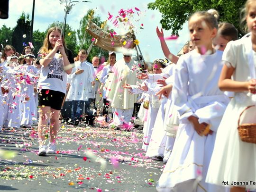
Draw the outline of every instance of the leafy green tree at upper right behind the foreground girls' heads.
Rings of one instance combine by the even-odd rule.
[[[148,3],[147,7],[158,9],[162,14],[162,27],[171,29],[174,34],[178,34],[192,13],[214,8],[219,12],[219,20],[233,24],[241,35],[239,12],[245,2],[246,0],[155,0]]]

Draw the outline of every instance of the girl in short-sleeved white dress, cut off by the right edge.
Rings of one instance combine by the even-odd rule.
[[[206,178],[206,182],[231,187],[231,192],[256,188],[250,183],[256,181],[256,144],[243,142],[238,135],[239,115],[247,106],[256,104],[256,0],[247,0],[245,12],[251,36],[229,42],[223,53],[225,65],[219,88],[235,95],[219,125]],[[255,122],[255,109],[249,113],[245,117]]]

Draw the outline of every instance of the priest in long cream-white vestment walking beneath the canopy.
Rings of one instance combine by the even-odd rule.
[[[131,58],[130,52],[124,52],[123,58],[118,60],[112,68],[113,75],[110,78],[106,97],[113,108],[113,123],[116,126],[128,124],[133,113],[134,103],[137,101],[137,94],[130,94],[128,89],[122,85],[125,83],[136,84],[138,63]]]

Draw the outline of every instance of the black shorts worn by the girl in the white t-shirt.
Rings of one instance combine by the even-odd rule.
[[[55,110],[61,110],[65,93],[49,89],[42,89],[38,92],[38,106],[47,106]]]

